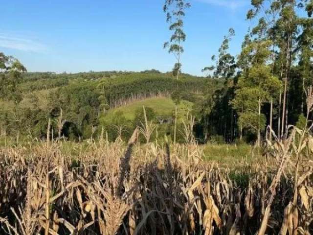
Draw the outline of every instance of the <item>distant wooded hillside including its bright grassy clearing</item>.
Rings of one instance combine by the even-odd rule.
[[[53,120],[54,133],[57,132],[56,118],[61,110],[66,120],[62,135],[70,140],[90,138],[94,129],[99,131],[103,126],[112,128],[121,123],[131,132],[138,125],[135,113],[138,115],[142,106],[153,110],[156,124],[161,118],[172,128],[175,104],[170,97],[175,91],[179,90],[182,100],[178,110],[181,119],[194,103],[203,99],[206,89],[216,90],[220,83],[189,74],[181,74],[177,81],[172,73],[155,70],[24,73],[17,86],[16,94],[20,97],[17,105],[9,96],[0,97],[0,132],[12,136],[31,132],[33,137],[45,138],[49,118]]]

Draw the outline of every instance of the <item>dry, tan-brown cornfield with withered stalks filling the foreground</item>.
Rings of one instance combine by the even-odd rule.
[[[240,170],[204,162],[190,139],[139,145],[138,129],[127,145],[91,140],[87,150],[74,147],[75,156],[61,151],[62,141],[2,148],[0,233],[310,235],[308,123],[284,141],[272,133],[264,159]]]

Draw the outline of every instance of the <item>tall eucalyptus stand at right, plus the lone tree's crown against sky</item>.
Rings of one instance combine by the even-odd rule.
[[[182,67],[181,43],[186,39],[182,18],[189,7],[185,0],[165,0],[166,21],[174,31],[165,44],[177,59],[173,74]],[[269,130],[278,138],[287,137],[288,126],[306,113],[306,90],[313,82],[312,13],[313,0],[251,0],[241,53],[228,52],[235,36],[230,28],[218,56],[212,56],[215,65],[202,69],[208,77],[224,80],[221,89],[212,94],[208,88],[197,104],[202,127],[198,135],[203,141],[218,135],[228,142],[245,137],[259,145],[267,133],[271,138]]]

